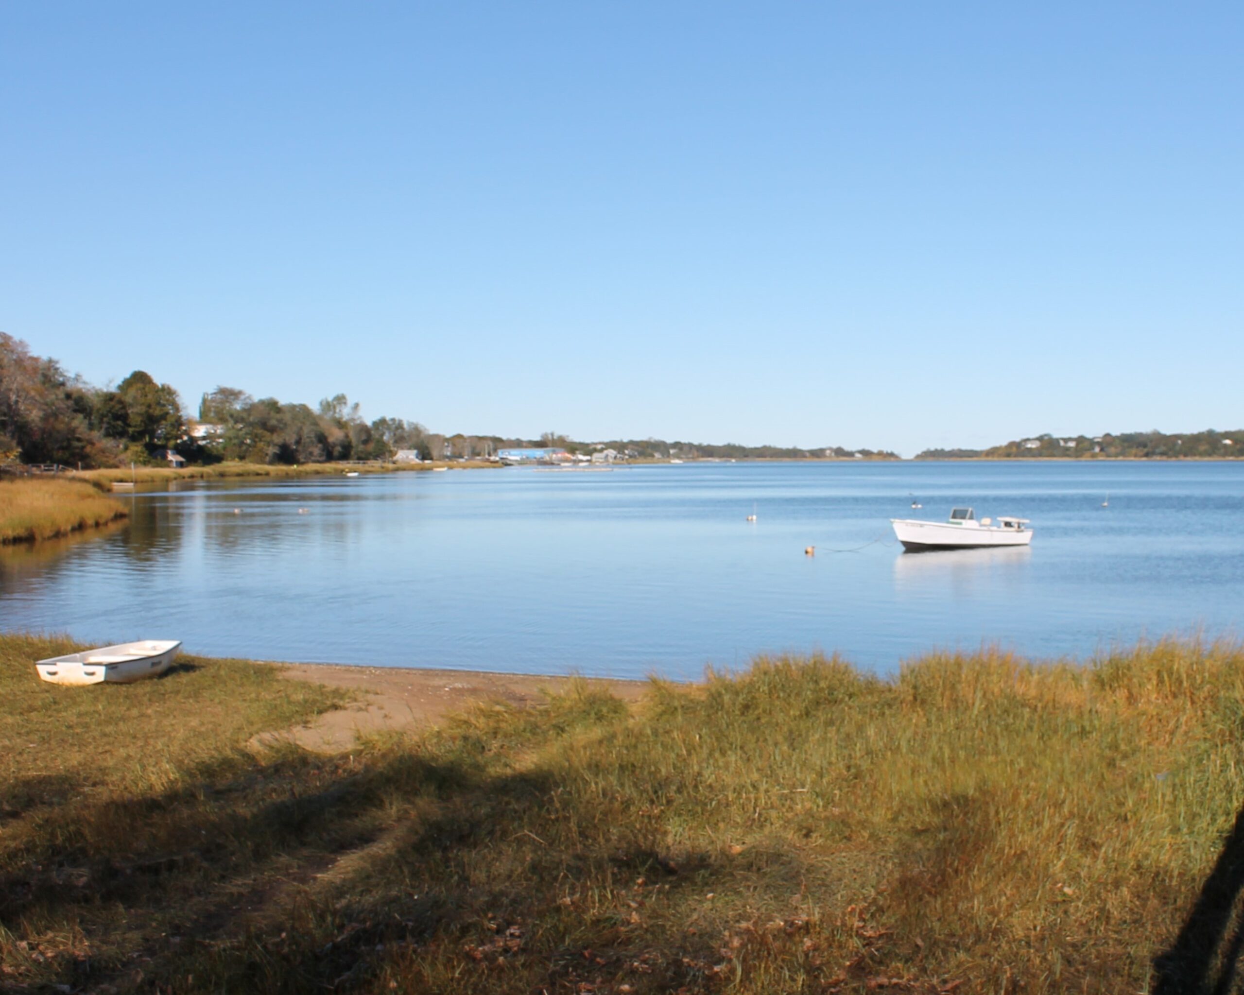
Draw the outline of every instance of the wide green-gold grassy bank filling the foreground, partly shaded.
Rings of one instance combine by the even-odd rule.
[[[266,668],[70,690],[53,648],[0,638],[6,983],[1173,993],[1232,945],[1232,647],[763,659],[333,757],[246,752],[330,704]]]

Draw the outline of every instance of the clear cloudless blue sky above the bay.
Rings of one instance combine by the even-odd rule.
[[[0,6],[0,330],[435,430],[1239,428],[1244,4]]]

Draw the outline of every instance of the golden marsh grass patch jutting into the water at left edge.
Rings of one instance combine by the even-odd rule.
[[[0,544],[55,539],[127,514],[119,501],[81,481],[0,479]]]

